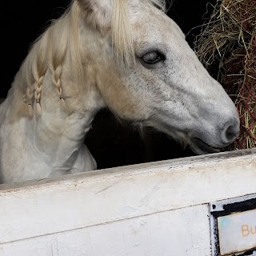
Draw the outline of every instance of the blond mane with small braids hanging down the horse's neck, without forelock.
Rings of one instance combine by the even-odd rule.
[[[15,80],[23,80],[22,85],[26,86],[26,88],[21,88],[23,91],[22,107],[14,107],[19,113],[27,113],[32,118],[34,116],[34,106],[36,106],[37,115],[42,113],[40,102],[42,85],[48,69],[52,73],[52,82],[56,87],[61,106],[69,112],[64,101],[65,97],[62,94],[62,63],[66,58],[66,51],[69,47],[72,63],[70,69],[74,74],[74,79],[82,87],[84,76],[82,75],[82,58],[78,45],[79,17],[80,9],[77,2],[73,1],[66,12],[57,20],[53,20],[50,26],[31,44],[29,54],[15,78]],[[21,83],[14,81],[14,86],[19,84]]]

